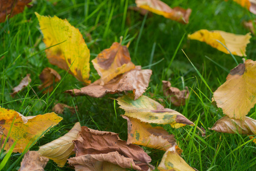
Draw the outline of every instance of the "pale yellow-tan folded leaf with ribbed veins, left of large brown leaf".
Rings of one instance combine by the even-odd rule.
[[[81,131],[81,125],[80,123],[76,123],[64,136],[39,146],[38,152],[41,156],[50,158],[58,166],[63,167],[67,162],[67,158],[74,154],[73,140],[77,139],[79,131]]]

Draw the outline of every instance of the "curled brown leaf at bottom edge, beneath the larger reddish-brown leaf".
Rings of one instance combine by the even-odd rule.
[[[68,159],[68,164],[74,166],[75,170],[125,171],[125,168],[141,170],[140,166],[137,166],[132,158],[124,157],[118,152],[86,154],[79,157],[72,157]]]

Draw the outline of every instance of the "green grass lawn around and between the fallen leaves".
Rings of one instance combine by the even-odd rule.
[[[63,117],[60,124],[51,128],[30,150],[38,150],[38,146],[63,136],[77,121],[92,129],[119,133],[121,139],[127,140],[127,121],[119,116],[124,114],[124,111],[109,99],[119,97],[122,93],[107,95],[101,99],[71,97],[63,93],[67,89],[81,88],[83,84],[48,62],[43,36],[34,14],[36,11],[40,15],[67,18],[71,25],[79,28],[90,48],[91,60],[100,51],[109,48],[113,42],[119,42],[120,36],[124,37],[124,44],[131,40],[129,52],[132,62],[153,71],[149,88],[144,95],[157,101],[163,99],[164,102],[160,103],[166,108],[175,109],[199,127],[206,129],[206,137],[201,137],[198,130],[191,126],[179,129],[164,126],[169,133],[175,135],[183,150],[182,158],[190,166],[201,171],[256,170],[256,144],[252,143],[248,136],[217,133],[208,129],[224,116],[221,109],[211,103],[212,92],[225,82],[227,71],[237,65],[235,60],[205,43],[186,38],[188,34],[203,28],[246,34],[248,30],[243,27],[242,22],[254,19],[255,15],[233,1],[164,1],[171,7],[192,9],[189,24],[182,25],[160,15],[141,16],[135,11],[127,10],[128,6],[135,6],[135,1],[130,0],[55,2],[56,5],[49,1],[35,1],[33,6],[26,8],[23,13],[0,23],[0,105],[25,116],[51,112],[55,103],[78,105],[77,115],[71,115],[70,111],[66,110],[60,115]],[[247,59],[255,60],[255,36],[250,42],[247,46]],[[235,56],[235,59],[242,63],[241,57]],[[45,67],[54,68],[62,76],[58,88],[46,95],[38,89],[39,74]],[[30,86],[14,98],[11,97],[11,89],[17,86],[26,74],[31,74]],[[91,63],[90,79],[94,82],[98,78]],[[190,98],[185,106],[170,105],[162,93],[162,80],[170,80],[172,86],[180,89],[189,87]],[[255,110],[251,109],[248,116],[256,119]],[[158,166],[164,152],[143,148],[149,152],[151,164]],[[0,160],[2,158],[1,156]],[[21,154],[13,153],[3,170],[10,167],[13,167],[12,170],[18,170],[20,162]],[[66,164],[66,167],[58,168],[50,160],[45,170],[72,170],[67,166]]]

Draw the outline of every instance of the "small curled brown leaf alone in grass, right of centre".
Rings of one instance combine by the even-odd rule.
[[[186,89],[180,91],[180,89],[176,87],[171,87],[170,82],[162,81],[162,91],[168,99],[172,101],[173,105],[180,106],[186,104],[186,99],[189,97],[188,87]]]

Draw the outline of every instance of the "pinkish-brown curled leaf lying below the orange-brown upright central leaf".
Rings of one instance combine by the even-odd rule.
[[[96,82],[89,86],[80,89],[70,89],[66,92],[70,93],[70,95],[75,94],[75,96],[88,95],[99,98],[105,96],[107,93],[133,91],[134,100],[136,100],[147,89],[151,75],[152,70],[140,70],[140,67],[136,66],[136,69],[117,76],[104,84],[104,86],[100,85],[101,80],[96,80]]]

